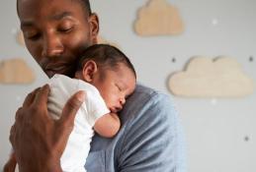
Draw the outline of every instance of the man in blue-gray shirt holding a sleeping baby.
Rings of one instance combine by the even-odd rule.
[[[18,0],[17,10],[26,46],[46,75],[72,77],[77,55],[97,43],[99,22],[89,1]],[[10,141],[20,172],[61,171],[59,158],[75,113],[86,98],[85,92],[74,94],[61,119],[53,121],[46,108],[48,91],[48,86],[36,89],[17,111]],[[114,139],[93,138],[87,171],[185,170],[177,112],[167,95],[136,86],[120,118],[122,128]]]

